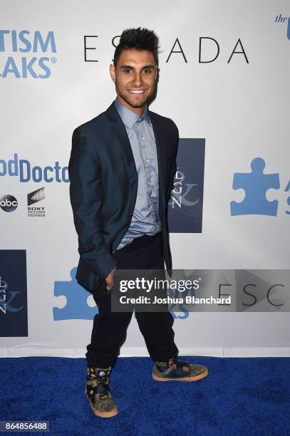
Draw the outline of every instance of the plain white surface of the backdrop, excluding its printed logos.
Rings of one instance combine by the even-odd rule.
[[[1,29],[30,32],[43,38],[53,31],[56,53],[13,51],[6,33],[0,51],[1,154],[8,162],[18,154],[41,168],[68,165],[71,135],[78,125],[103,112],[115,98],[108,66],[113,36],[124,28],[145,26],[160,36],[160,81],[151,105],[172,118],[180,137],[205,138],[204,204],[201,234],[171,234],[172,258],[180,269],[289,269],[290,216],[285,187],[289,181],[290,40],[287,1],[147,0],[120,1],[1,0]],[[31,36],[32,35],[32,36]],[[83,37],[93,51],[84,61]],[[219,43],[212,63],[199,63],[200,37]],[[176,38],[185,53],[172,53]],[[243,54],[229,56],[240,38]],[[23,46],[23,44],[22,44]],[[178,46],[175,46],[175,50]],[[216,46],[204,42],[202,58],[213,58]],[[237,51],[241,47],[238,46]],[[47,56],[48,78],[3,76],[6,59]],[[52,57],[56,62],[51,62]],[[37,63],[37,62],[36,62]],[[21,69],[21,68],[20,68]],[[35,68],[37,70],[37,68]],[[38,68],[38,73],[43,73]],[[23,73],[21,73],[23,75]],[[281,188],[276,217],[232,217],[229,204],[241,201],[232,190],[234,172],[250,172],[254,157],[263,157],[266,173],[279,173]],[[1,170],[1,166],[0,166]],[[28,217],[26,197],[45,187],[45,217]],[[18,207],[0,210],[1,249],[26,249],[29,336],[0,338],[1,356],[56,355],[82,357],[92,321],[53,321],[53,307],[65,297],[53,295],[55,281],[70,281],[77,265],[77,236],[66,182],[20,182],[0,177],[0,197],[12,194]],[[289,313],[190,313],[175,321],[180,354],[216,356],[290,355]],[[122,355],[147,355],[135,319]]]

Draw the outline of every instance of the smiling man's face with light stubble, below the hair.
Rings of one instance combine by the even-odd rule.
[[[115,82],[120,103],[135,113],[142,113],[155,88],[157,65],[153,53],[147,50],[123,50],[117,66],[110,65],[110,76]]]

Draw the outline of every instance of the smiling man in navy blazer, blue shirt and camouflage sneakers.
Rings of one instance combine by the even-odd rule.
[[[73,132],[70,194],[80,261],[76,279],[93,293],[98,314],[88,345],[86,395],[95,415],[118,407],[110,373],[125,341],[130,312],[111,311],[115,269],[164,269],[172,263],[167,202],[177,170],[178,130],[147,108],[157,81],[157,36],[146,28],[123,31],[110,77],[116,100]],[[152,378],[195,381],[207,368],[177,360],[173,317],[135,313],[155,365]]]

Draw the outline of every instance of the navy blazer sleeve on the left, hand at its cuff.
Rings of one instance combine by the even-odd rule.
[[[117,264],[103,238],[100,162],[95,147],[82,126],[73,132],[68,175],[73,221],[78,234],[78,252],[88,269],[101,279]]]

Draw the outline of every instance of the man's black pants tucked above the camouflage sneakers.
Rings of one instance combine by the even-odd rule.
[[[119,269],[164,269],[162,237],[143,236],[117,250]],[[91,343],[87,346],[87,364],[106,368],[113,367],[125,341],[132,312],[111,312],[110,291],[105,281],[93,292],[98,311],[93,320]],[[173,316],[166,312],[135,312],[138,326],[145,339],[152,360],[168,360],[178,355],[172,330]]]

